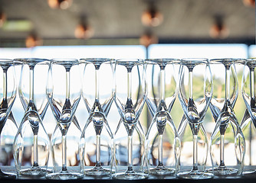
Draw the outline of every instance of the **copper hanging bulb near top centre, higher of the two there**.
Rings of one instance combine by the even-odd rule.
[[[148,27],[157,27],[162,24],[163,15],[161,12],[156,10],[156,6],[151,4],[149,8],[143,12],[141,16],[143,25]]]

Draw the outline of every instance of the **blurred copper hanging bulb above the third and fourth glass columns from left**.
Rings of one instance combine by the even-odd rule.
[[[87,24],[78,24],[74,30],[74,36],[78,39],[89,39],[94,35],[94,30]]]

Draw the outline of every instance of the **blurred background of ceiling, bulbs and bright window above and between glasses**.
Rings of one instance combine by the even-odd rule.
[[[255,56],[254,0],[0,1],[1,58]],[[20,68],[16,75],[19,79]],[[241,75],[242,66],[238,66],[235,113],[239,121],[245,113]],[[12,111],[20,124],[24,110],[18,97]],[[177,98],[171,112],[176,127],[182,117],[180,111]],[[82,100],[76,116],[84,128],[88,114]],[[108,118],[114,132],[119,120],[114,104]],[[146,133],[151,122],[146,106],[140,121]],[[210,136],[215,122],[209,110],[204,123]],[[48,108],[44,127],[50,136],[55,125]]]

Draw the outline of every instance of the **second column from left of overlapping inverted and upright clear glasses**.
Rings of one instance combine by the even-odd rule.
[[[47,59],[15,59],[21,63],[19,96],[25,109],[14,141],[14,158],[18,176],[44,176],[48,170],[50,140],[42,120],[48,108],[45,95],[50,62]]]

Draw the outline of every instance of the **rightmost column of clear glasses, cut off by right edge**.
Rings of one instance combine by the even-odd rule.
[[[246,154],[244,162],[244,174],[254,173],[256,170],[252,165],[256,165],[254,153],[256,149],[256,103],[255,103],[255,87],[256,87],[256,59],[247,59],[245,61],[243,78],[241,82],[242,96],[245,101],[246,110],[241,120],[241,130],[245,136]]]

